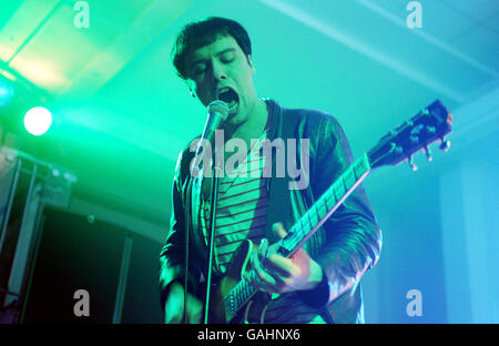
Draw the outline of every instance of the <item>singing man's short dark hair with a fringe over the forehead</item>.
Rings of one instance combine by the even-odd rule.
[[[238,22],[220,17],[208,17],[201,21],[191,22],[176,35],[172,49],[173,65],[182,79],[187,79],[185,67],[185,58],[187,54],[214,42],[218,35],[233,37],[246,58],[252,53],[249,37]]]

